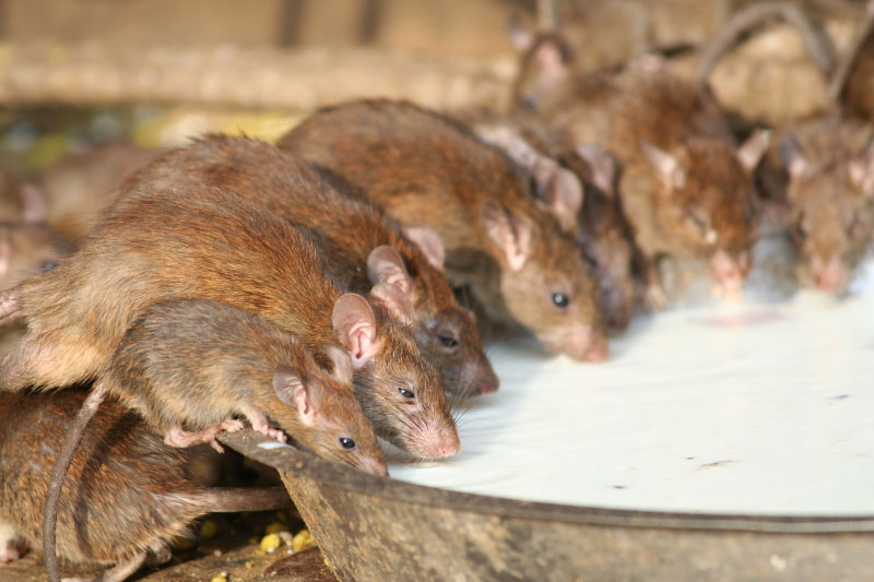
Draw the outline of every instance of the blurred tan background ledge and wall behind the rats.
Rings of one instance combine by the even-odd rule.
[[[273,139],[307,111],[357,96],[500,109],[516,72],[511,14],[529,28],[558,26],[580,67],[658,50],[690,74],[700,47],[749,3],[0,0],[0,164],[32,170],[119,139],[145,146],[203,131]],[[853,0],[795,3],[839,48],[863,9]],[[766,121],[827,106],[822,74],[792,27],[776,23],[751,43],[711,78],[727,106]]]

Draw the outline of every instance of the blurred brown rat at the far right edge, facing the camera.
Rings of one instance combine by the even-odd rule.
[[[779,152],[799,281],[840,293],[874,240],[874,129],[818,118],[787,130]]]

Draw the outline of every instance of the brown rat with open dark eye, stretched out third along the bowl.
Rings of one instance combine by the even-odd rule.
[[[433,226],[450,282],[552,353],[603,360],[594,284],[571,238],[534,203],[530,177],[462,123],[406,102],[318,110],[279,146],[340,174],[403,224]]]

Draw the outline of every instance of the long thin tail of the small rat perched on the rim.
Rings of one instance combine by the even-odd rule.
[[[43,558],[46,562],[46,570],[48,571],[48,579],[50,582],[60,582],[60,570],[58,569],[58,556],[55,554],[55,526],[58,522],[58,504],[61,499],[61,489],[63,482],[67,479],[67,471],[73,461],[73,454],[79,448],[79,442],[85,432],[85,427],[88,421],[94,417],[101,403],[106,397],[109,389],[107,383],[103,380],[97,382],[82,403],[79,408],[73,424],[67,430],[67,437],[63,439],[63,444],[55,459],[55,468],[51,470],[51,478],[48,483],[48,491],[46,492],[46,509],[43,519]]]

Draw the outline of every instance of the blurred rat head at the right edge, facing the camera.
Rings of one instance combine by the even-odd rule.
[[[874,236],[874,145],[826,163],[808,159],[795,139],[780,140],[789,173],[789,229],[801,254],[799,278],[842,292]]]

